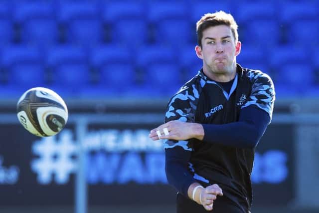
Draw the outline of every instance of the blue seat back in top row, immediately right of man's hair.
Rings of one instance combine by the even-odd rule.
[[[276,20],[276,6],[269,1],[242,3],[236,8],[235,19],[240,26],[254,20]]]

